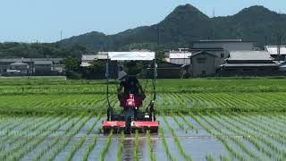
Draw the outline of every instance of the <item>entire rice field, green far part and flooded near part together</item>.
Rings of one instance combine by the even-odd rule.
[[[159,132],[104,135],[105,80],[0,77],[0,160],[285,160],[285,97],[284,77],[157,80]]]

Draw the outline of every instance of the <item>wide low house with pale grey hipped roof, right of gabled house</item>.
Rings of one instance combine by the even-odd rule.
[[[226,63],[221,65],[223,75],[272,75],[279,65],[266,51],[231,51]]]

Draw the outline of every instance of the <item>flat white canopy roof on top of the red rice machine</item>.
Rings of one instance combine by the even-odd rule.
[[[108,52],[110,60],[143,60],[151,61],[155,59],[155,52]]]

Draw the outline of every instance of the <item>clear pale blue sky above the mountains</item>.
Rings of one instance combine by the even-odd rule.
[[[91,31],[107,35],[164,20],[180,4],[209,17],[251,5],[286,13],[286,0],[0,0],[0,42],[55,42]]]

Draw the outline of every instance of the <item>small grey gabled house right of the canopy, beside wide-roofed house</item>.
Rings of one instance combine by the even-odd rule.
[[[192,77],[203,77],[214,75],[216,71],[215,58],[217,56],[206,52],[200,51],[194,55],[190,55],[189,73]]]

